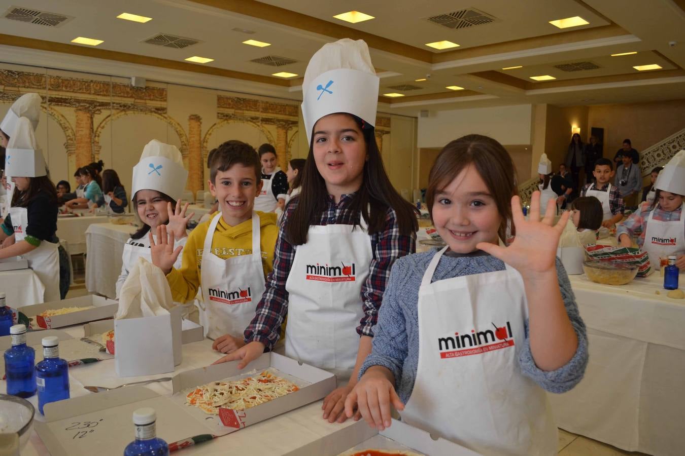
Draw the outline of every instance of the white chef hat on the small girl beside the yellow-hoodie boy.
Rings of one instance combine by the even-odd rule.
[[[157,139],[145,145],[140,161],[133,167],[131,200],[138,190],[155,190],[180,200],[186,188],[188,170],[183,167],[181,152]]]

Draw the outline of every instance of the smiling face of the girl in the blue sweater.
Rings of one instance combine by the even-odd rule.
[[[497,243],[502,218],[495,199],[473,165],[436,192],[432,209],[438,234],[452,252],[474,252],[479,242]]]

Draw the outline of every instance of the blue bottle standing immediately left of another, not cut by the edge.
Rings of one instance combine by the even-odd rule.
[[[5,351],[5,373],[7,394],[18,397],[32,397],[36,394],[36,352],[26,345],[26,326],[10,327],[12,348]]]

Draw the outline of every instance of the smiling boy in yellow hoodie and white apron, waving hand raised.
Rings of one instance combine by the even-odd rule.
[[[173,268],[181,247],[174,250],[166,226],[158,228],[159,243],[150,242],[152,263],[166,273],[174,301],[192,301],[202,290],[200,323],[214,339],[213,348],[223,353],[245,345],[242,333],[273,269],[276,215],[253,211],[260,172],[252,146],[235,140],[221,144],[212,155],[209,181],[220,212],[190,232],[181,269]]]

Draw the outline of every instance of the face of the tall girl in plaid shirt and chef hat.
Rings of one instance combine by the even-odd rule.
[[[366,141],[352,116],[335,113],[319,119],[314,124],[312,151],[316,169],[336,200],[362,186]]]

